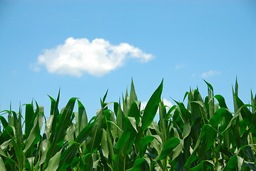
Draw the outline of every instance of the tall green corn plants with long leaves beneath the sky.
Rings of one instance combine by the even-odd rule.
[[[162,81],[142,109],[131,81],[119,102],[107,103],[107,91],[91,120],[78,98],[59,110],[60,92],[47,119],[36,101],[24,114],[1,111],[0,170],[256,170],[256,95],[244,104],[236,81],[232,113],[205,83],[207,97],[189,90],[168,108]]]

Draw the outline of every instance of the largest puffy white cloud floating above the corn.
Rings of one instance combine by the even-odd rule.
[[[144,53],[128,43],[112,45],[103,38],[88,41],[87,38],[68,38],[64,44],[47,49],[36,65],[45,65],[49,73],[83,76],[104,76],[124,65],[129,58],[148,62],[153,55]],[[34,70],[39,70],[34,66]]]

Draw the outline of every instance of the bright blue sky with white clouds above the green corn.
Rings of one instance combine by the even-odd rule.
[[[236,76],[245,103],[256,93],[255,64],[256,1],[0,0],[0,110],[35,99],[48,117],[61,88],[59,108],[77,97],[91,118],[131,78],[143,103],[164,78],[168,105],[205,98],[205,79],[233,110]]]

